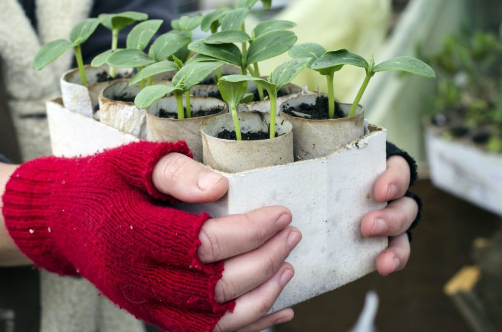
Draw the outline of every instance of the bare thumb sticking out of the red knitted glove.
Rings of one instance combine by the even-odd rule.
[[[155,188],[187,203],[207,203],[225,195],[228,180],[177,152],[163,156],[152,173]]]

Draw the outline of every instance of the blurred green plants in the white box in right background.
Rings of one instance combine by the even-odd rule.
[[[427,58],[438,74],[432,124],[444,138],[502,152],[502,35],[465,26]]]

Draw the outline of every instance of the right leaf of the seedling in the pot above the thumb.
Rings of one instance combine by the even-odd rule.
[[[194,62],[185,65],[173,77],[173,84],[184,92],[202,80],[219,67],[223,66],[223,61]]]

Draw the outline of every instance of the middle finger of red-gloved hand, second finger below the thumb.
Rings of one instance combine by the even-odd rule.
[[[216,300],[229,301],[272,278],[301,237],[300,231],[290,226],[258,249],[225,260],[223,276],[216,284]]]

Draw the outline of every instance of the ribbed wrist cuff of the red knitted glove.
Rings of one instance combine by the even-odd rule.
[[[22,254],[35,265],[60,274],[75,275],[75,269],[60,252],[48,225],[60,172],[71,172],[63,158],[39,158],[22,164],[5,185],[5,228]]]

